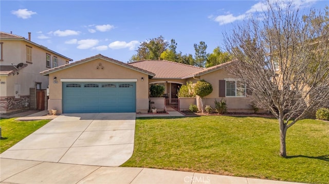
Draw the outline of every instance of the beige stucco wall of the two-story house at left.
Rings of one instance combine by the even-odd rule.
[[[27,43],[24,40],[2,40],[3,42],[3,62],[1,65],[15,66],[19,63],[27,64],[28,66],[19,71],[19,75],[9,75],[6,81],[6,92],[1,89],[1,96],[14,96],[14,85],[21,85],[21,95],[29,95],[30,88],[35,88],[35,83],[41,83],[42,89],[48,88],[48,77],[40,75],[41,71],[47,70],[46,53],[52,56],[57,56],[58,65],[65,65],[66,59],[55,53],[49,52],[43,48]],[[26,63],[26,45],[32,47],[32,64]],[[1,85],[3,88],[4,85]]]

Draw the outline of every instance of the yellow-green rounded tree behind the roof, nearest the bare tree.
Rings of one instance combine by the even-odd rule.
[[[230,53],[222,52],[220,47],[216,47],[207,57],[206,68],[229,62],[231,59]]]

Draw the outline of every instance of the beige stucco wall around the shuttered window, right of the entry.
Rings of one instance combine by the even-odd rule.
[[[200,79],[206,80],[212,85],[213,91],[206,98],[206,105],[210,105],[212,108],[215,107],[215,99],[220,101],[222,98],[226,99],[228,112],[252,112],[250,100],[247,97],[219,97],[220,82],[226,78],[236,78],[234,75],[229,74],[223,69],[216,70],[199,77]]]

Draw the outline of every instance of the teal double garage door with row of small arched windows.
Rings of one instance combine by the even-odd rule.
[[[90,112],[136,112],[136,83],[63,83],[63,113]]]

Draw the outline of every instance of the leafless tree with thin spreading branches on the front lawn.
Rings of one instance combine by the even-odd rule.
[[[286,157],[288,128],[329,101],[329,11],[301,16],[293,3],[279,1],[264,8],[224,34],[226,49],[237,58],[228,70],[246,83],[258,107],[278,119],[280,156]]]

